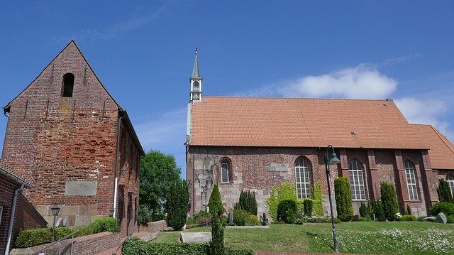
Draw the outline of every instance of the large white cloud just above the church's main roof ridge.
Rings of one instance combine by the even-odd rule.
[[[277,89],[277,94],[283,97],[384,99],[397,87],[396,80],[365,64],[286,83]]]

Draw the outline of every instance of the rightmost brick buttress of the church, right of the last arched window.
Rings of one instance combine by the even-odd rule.
[[[438,202],[438,177],[436,172],[432,170],[431,160],[428,157],[428,151],[421,151],[422,163],[421,163],[421,180],[423,180],[423,193],[426,200],[427,210]]]

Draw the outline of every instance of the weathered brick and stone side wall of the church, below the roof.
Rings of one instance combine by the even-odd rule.
[[[241,190],[254,190],[258,200],[258,215],[268,212],[266,198],[272,186],[282,182],[295,183],[295,161],[302,157],[309,163],[311,185],[321,183],[323,212],[328,216],[328,188],[326,183],[324,148],[266,148],[233,146],[189,146],[187,152],[187,180],[192,200],[190,213],[205,210],[211,195],[212,185],[218,184],[224,207],[228,212],[238,202]],[[336,148],[341,159],[337,169],[331,166],[331,192],[334,193],[333,179],[348,178],[350,161],[359,161],[365,180],[366,200],[353,202],[358,213],[360,202],[371,198],[380,199],[380,182],[387,181],[397,186],[399,205],[411,208],[414,215],[427,215],[428,207],[438,200],[436,188],[438,175],[424,163],[426,151]],[[230,159],[230,183],[221,183],[220,163]],[[402,162],[411,161],[415,167],[419,200],[410,201]],[[428,167],[424,167],[428,166]],[[403,174],[405,172],[403,171]]]

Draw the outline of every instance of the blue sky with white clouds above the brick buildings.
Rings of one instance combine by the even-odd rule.
[[[204,95],[392,98],[454,141],[453,1],[131,2],[0,0],[1,106],[74,39],[145,150],[184,172],[197,45]]]

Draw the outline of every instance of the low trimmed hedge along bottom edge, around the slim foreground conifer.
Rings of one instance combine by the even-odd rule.
[[[123,255],[174,255],[191,254],[207,255],[210,254],[209,244],[188,244],[188,243],[155,243],[144,242],[136,237],[131,237],[123,244]],[[253,255],[250,249],[231,249],[226,247],[226,255]]]

